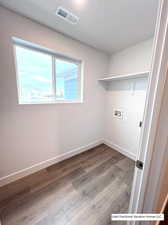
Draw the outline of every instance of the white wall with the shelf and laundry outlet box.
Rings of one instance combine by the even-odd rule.
[[[113,54],[110,59],[111,74],[136,73],[150,70],[152,39]],[[130,79],[110,82],[106,96],[105,140],[112,147],[135,158],[139,144],[139,122],[143,117],[147,79]],[[113,111],[123,111],[123,119],[113,116]]]

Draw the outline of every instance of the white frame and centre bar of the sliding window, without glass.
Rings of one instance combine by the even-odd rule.
[[[76,59],[73,57],[65,56],[61,53],[55,52],[53,50],[44,48],[39,45],[35,45],[33,43],[18,39],[13,37],[12,38],[13,42],[13,49],[14,49],[14,58],[15,58],[15,70],[16,70],[16,81],[17,81],[17,92],[18,92],[18,104],[20,105],[25,105],[25,104],[57,104],[57,103],[83,103],[83,62],[80,59]],[[49,100],[36,100],[36,101],[28,101],[28,102],[23,102],[21,99],[21,94],[20,94],[20,82],[19,82],[19,73],[18,73],[18,65],[17,65],[17,58],[16,58],[16,46],[33,50],[35,52],[40,52],[46,55],[51,56],[52,59],[52,85],[53,85],[53,93],[54,93],[54,98]],[[67,99],[58,99],[56,97],[56,65],[55,62],[56,60],[63,60],[69,63],[76,64],[78,66],[78,73],[77,73],[77,99],[75,100],[67,100]]]

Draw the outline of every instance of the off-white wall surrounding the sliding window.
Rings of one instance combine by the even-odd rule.
[[[35,165],[38,165],[37,168],[43,167],[46,160],[50,164],[64,153],[84,150],[100,143],[104,131],[105,91],[97,79],[107,72],[108,57],[3,8],[0,8],[0,28],[2,185],[25,175],[28,172],[26,168]],[[85,64],[84,103],[18,105],[12,36],[82,59]]]

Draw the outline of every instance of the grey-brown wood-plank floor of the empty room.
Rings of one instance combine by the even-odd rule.
[[[0,188],[2,225],[110,225],[127,212],[134,162],[100,145]]]

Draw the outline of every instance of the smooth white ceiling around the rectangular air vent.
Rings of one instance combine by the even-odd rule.
[[[158,0],[0,0],[0,4],[73,39],[113,53],[153,36]],[[55,15],[62,6],[76,25]]]

